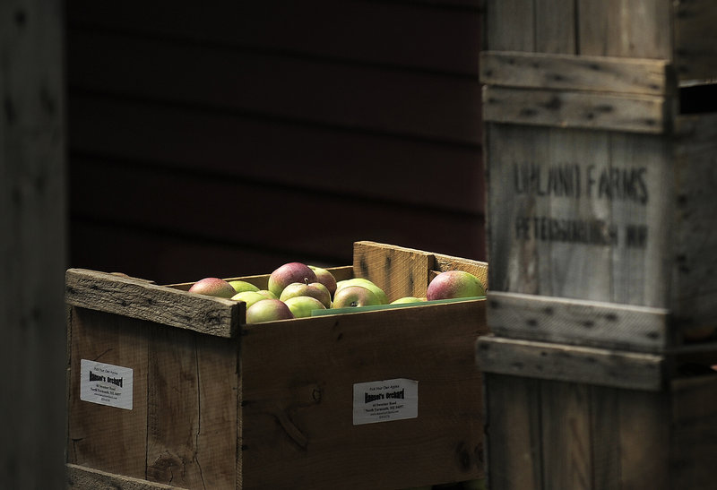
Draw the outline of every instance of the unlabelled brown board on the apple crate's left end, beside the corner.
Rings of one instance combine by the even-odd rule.
[[[197,488],[237,477],[238,344],[181,329],[151,332],[147,479]]]

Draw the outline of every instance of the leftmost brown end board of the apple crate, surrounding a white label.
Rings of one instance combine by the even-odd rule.
[[[148,322],[73,307],[67,462],[144,478]],[[133,369],[132,409],[80,400],[82,359]]]

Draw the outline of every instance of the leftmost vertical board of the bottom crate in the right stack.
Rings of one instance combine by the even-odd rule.
[[[542,488],[540,381],[493,373],[484,380],[488,485]]]

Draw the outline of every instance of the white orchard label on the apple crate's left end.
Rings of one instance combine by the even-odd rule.
[[[80,370],[80,400],[132,409],[131,368],[82,359]]]

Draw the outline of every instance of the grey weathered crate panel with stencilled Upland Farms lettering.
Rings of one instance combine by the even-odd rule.
[[[489,125],[487,146],[493,290],[666,305],[667,142]]]

